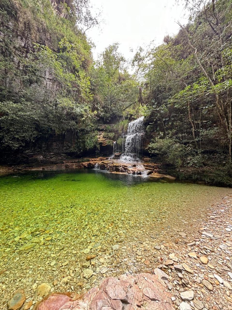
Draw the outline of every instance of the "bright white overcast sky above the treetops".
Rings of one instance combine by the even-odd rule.
[[[162,43],[166,34],[175,34],[179,26],[187,22],[184,17],[184,0],[92,0],[93,14],[101,10],[100,29],[89,29],[86,34],[95,43],[93,58],[114,42],[120,44],[119,51],[131,59],[137,47],[146,46],[154,40]],[[133,49],[134,52],[130,50]]]

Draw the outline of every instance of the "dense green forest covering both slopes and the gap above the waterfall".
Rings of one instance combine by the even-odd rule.
[[[88,0],[2,0],[2,162],[67,135],[72,156],[97,155],[99,127],[120,144],[128,121],[144,115],[144,151],[155,160],[217,166],[230,178],[232,1],[186,0],[186,9],[188,24],[160,46],[129,61],[112,43],[94,60]]]

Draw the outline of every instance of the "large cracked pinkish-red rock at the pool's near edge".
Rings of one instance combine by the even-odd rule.
[[[99,287],[73,298],[63,294],[51,294],[38,303],[35,310],[174,310],[170,293],[157,275],[141,273],[138,276],[122,275],[106,278]]]

